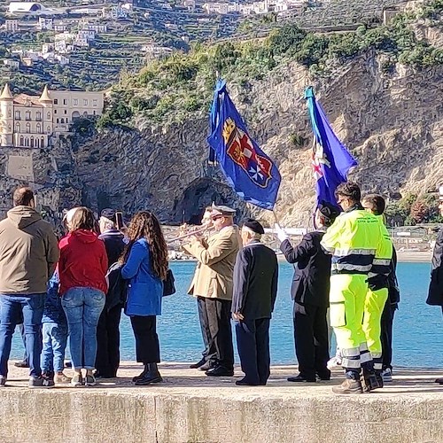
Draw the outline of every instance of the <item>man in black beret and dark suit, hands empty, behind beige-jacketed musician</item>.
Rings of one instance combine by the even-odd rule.
[[[266,385],[269,377],[269,323],[277,292],[276,253],[260,242],[265,230],[248,219],[242,228],[245,247],[234,268],[232,318],[236,322],[237,349],[245,377],[236,385]]]

